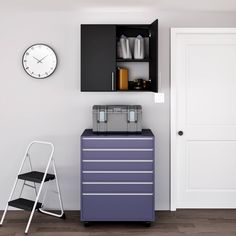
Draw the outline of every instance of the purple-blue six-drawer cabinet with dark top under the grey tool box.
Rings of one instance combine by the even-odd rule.
[[[153,222],[154,135],[81,136],[81,221]]]

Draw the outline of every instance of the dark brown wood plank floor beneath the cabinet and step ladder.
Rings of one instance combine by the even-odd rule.
[[[2,212],[0,212],[2,214]],[[9,211],[0,236],[24,235],[27,212]],[[236,236],[236,210],[178,210],[157,212],[151,227],[140,223],[93,223],[84,227],[79,212],[66,212],[66,220],[36,213],[28,235],[37,236]]]

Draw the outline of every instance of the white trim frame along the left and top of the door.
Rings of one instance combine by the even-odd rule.
[[[176,211],[177,206],[177,76],[176,55],[177,38],[181,34],[236,34],[236,28],[171,28],[170,37],[170,210]]]

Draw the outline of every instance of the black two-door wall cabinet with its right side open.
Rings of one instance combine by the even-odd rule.
[[[145,58],[117,58],[121,35],[131,39],[141,35],[147,49]],[[146,90],[135,91],[158,91],[158,20],[150,25],[81,25],[81,91],[119,91],[120,66],[129,68],[130,81],[139,78],[138,72],[149,81]]]

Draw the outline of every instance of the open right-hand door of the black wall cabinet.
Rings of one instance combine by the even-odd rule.
[[[149,38],[149,77],[151,91],[158,92],[158,20],[150,25]]]

